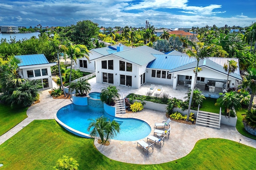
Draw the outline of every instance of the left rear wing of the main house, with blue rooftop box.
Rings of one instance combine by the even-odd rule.
[[[120,49],[117,49],[118,46],[119,45],[112,45],[108,47],[90,50],[90,53],[89,53],[90,62],[85,57],[77,59],[76,63],[74,63],[74,69],[79,69],[84,72],[95,72],[94,60],[102,56],[106,56],[106,55],[118,52],[118,50],[120,50]],[[123,48],[123,50],[130,49],[130,47],[127,47],[125,45],[122,45],[121,47]]]

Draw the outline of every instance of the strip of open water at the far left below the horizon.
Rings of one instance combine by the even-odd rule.
[[[16,39],[16,41],[22,40],[22,39],[30,39],[32,36],[36,36],[38,38],[38,35],[40,35],[39,32],[34,33],[0,33],[0,39],[6,38],[7,41],[10,41],[10,37]]]

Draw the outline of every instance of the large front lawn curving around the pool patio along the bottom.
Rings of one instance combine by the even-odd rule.
[[[0,145],[3,170],[51,170],[62,155],[75,158],[80,170],[140,170],[152,166],[111,160],[98,152],[91,139],[69,133],[55,120],[33,121]],[[234,141],[203,139],[184,158],[160,166],[163,169],[254,169],[255,155],[256,149]]]

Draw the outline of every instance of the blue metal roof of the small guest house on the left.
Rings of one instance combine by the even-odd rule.
[[[15,57],[21,60],[21,63],[18,64],[18,66],[49,64],[44,54],[16,55]]]

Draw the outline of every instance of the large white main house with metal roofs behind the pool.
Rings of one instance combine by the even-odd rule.
[[[171,85],[174,90],[178,86],[184,86],[185,82],[188,87],[194,83],[196,59],[178,51],[164,54],[148,46],[133,49],[124,47],[126,46],[117,46],[117,50],[106,50],[109,47],[92,50],[92,56],[94,53],[98,54],[90,59],[91,62],[95,61],[96,82],[132,88],[140,88],[144,83],[150,82]],[[198,84],[223,88],[227,80],[223,65],[228,60],[231,59],[208,57],[200,60],[199,67],[202,71],[198,72]],[[238,63],[238,59],[233,60]],[[230,87],[236,87],[239,81],[242,78],[238,64],[236,72],[229,74]]]

